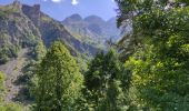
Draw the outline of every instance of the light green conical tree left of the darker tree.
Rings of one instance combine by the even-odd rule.
[[[38,70],[36,109],[70,111],[80,97],[83,77],[76,60],[61,42],[56,41]]]

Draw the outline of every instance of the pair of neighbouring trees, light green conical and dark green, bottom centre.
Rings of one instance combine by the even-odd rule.
[[[36,77],[32,110],[127,110],[130,74],[117,52],[99,52],[84,73],[64,46],[56,41],[42,59]]]

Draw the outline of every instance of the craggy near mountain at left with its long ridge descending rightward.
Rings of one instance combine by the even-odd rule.
[[[78,18],[81,19],[81,18]],[[78,21],[78,20],[77,20]],[[14,1],[0,6],[0,62],[17,56],[14,50],[31,47],[42,41],[46,47],[60,40],[72,56],[83,52],[94,54],[99,49],[72,36],[64,26],[40,11],[40,6],[21,4]],[[4,56],[6,51],[6,56]]]

